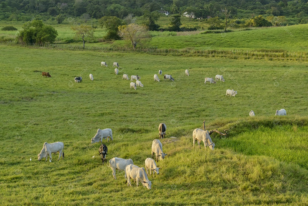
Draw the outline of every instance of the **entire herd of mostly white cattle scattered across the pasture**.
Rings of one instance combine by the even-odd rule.
[[[107,67],[107,63],[106,62],[101,62],[101,66],[106,66]],[[119,73],[119,64],[117,62],[113,63],[113,67],[115,68],[115,74],[117,75]],[[162,75],[162,71],[159,70],[158,71],[159,75]],[[189,72],[186,69],[185,70],[185,74],[187,76],[189,76]],[[51,75],[49,74],[49,72],[42,72],[42,77],[51,77]],[[93,75],[90,74],[89,75],[90,80],[94,80]],[[129,77],[127,74],[123,74],[123,80],[129,80]],[[131,81],[136,80],[135,82],[131,82],[130,83],[130,88],[134,88],[136,89],[137,86],[143,87],[143,84],[140,81],[141,77],[138,75],[132,75],[131,76]],[[167,80],[171,80],[174,81],[173,77],[171,75],[165,74],[164,75],[164,79]],[[75,77],[75,82],[82,82],[82,77]],[[205,82],[210,82],[213,84],[216,84],[216,81],[220,80],[222,82],[225,82],[225,79],[223,78],[222,75],[216,75],[215,76],[215,80],[213,78],[209,78],[209,77],[205,77]],[[158,78],[158,75],[155,74],[154,75],[154,81],[160,81],[160,79]],[[234,91],[233,89],[230,90],[228,89],[226,91],[227,97],[230,95],[230,97],[235,97],[235,95],[237,94],[237,91]],[[276,114],[275,115],[286,115],[286,110],[285,109],[280,109],[280,110],[276,110]],[[249,112],[249,116],[253,117],[255,116],[255,113],[253,112],[253,110],[251,110]],[[159,138],[163,139],[165,138],[166,135],[166,124],[164,123],[160,123],[159,127]],[[96,142],[102,142],[102,144],[99,147],[99,155],[101,157],[101,160],[104,163],[107,164],[107,159],[106,159],[106,155],[107,155],[107,151],[108,148],[105,144],[103,144],[103,139],[107,139],[107,142],[109,142],[109,139],[111,141],[113,141],[113,137],[112,137],[112,130],[109,128],[106,129],[98,129],[95,136],[91,139],[91,143],[96,143]],[[197,141],[199,148],[200,147],[200,143],[201,141],[204,143],[205,149],[206,146],[208,146],[211,150],[214,150],[215,144],[214,142],[212,142],[212,139],[209,135],[209,131],[208,130],[201,130],[201,129],[195,129],[193,130],[193,147],[195,147],[195,142]],[[54,143],[47,143],[45,142],[43,144],[43,148],[41,150],[41,152],[38,154],[38,160],[40,161],[43,158],[46,158],[45,161],[47,161],[47,158],[49,156],[50,158],[50,162],[52,160],[51,158],[51,154],[54,153],[58,153],[59,152],[59,159],[62,156],[62,159],[64,159],[64,144],[63,142],[54,142]],[[163,160],[165,158],[165,156],[167,154],[165,154],[163,152],[163,148],[162,148],[162,144],[160,142],[159,139],[154,139],[152,142],[152,158],[154,158],[154,154],[155,154],[155,160],[156,162],[158,162],[159,160]],[[95,155],[93,156],[93,158],[95,157]],[[119,171],[124,171],[124,177],[125,180],[127,181],[127,185],[132,186],[131,184],[131,179],[133,179],[134,181],[136,181],[137,187],[139,185],[139,182],[142,183],[142,185],[144,187],[147,187],[148,189],[151,189],[152,183],[151,181],[148,179],[148,176],[151,176],[153,173],[153,178],[154,178],[154,173],[156,172],[157,174],[159,174],[159,169],[160,167],[156,166],[156,162],[154,159],[152,158],[147,158],[145,159],[145,169],[144,167],[138,167],[136,165],[134,165],[133,160],[132,159],[122,159],[122,158],[118,158],[118,157],[114,157],[112,159],[109,160],[109,167],[112,170],[112,176],[114,179],[116,179],[116,175],[115,175],[115,171],[119,170]],[[58,159],[58,160],[59,160]]]

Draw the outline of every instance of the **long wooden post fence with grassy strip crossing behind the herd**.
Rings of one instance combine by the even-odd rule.
[[[25,44],[10,41],[2,41],[0,45],[23,46],[33,48],[52,48],[79,51],[100,51],[100,52],[123,52],[123,53],[147,53],[151,55],[170,55],[170,56],[201,56],[201,57],[221,57],[229,59],[265,59],[265,60],[284,60],[284,61],[307,61],[307,53],[290,51],[248,51],[239,49],[230,50],[195,50],[195,49],[159,49],[156,47],[147,48],[128,48],[128,47],[87,47],[67,44]]]

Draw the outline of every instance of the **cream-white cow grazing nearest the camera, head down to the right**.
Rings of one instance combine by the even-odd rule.
[[[143,167],[138,167],[136,165],[130,164],[125,167],[125,179],[127,181],[127,186],[131,184],[131,179],[137,182],[137,188],[139,182],[143,184],[143,187],[147,187],[149,190],[151,189],[151,181],[148,179],[148,175],[145,172]]]

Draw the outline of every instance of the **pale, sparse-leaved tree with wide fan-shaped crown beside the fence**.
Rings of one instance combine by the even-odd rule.
[[[142,44],[144,41],[151,38],[148,28],[144,25],[137,24],[120,26],[119,35],[123,37],[123,39],[130,41],[134,49],[137,44]]]

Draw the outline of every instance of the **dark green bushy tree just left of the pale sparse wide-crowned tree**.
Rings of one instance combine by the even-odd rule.
[[[122,20],[116,16],[103,16],[99,19],[99,24],[101,27],[105,27],[108,32],[104,36],[104,39],[108,40],[119,40],[121,37],[119,36],[118,27],[122,25]]]

